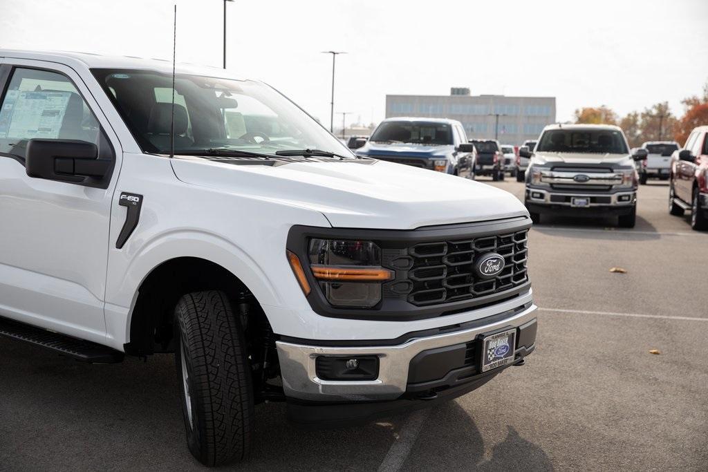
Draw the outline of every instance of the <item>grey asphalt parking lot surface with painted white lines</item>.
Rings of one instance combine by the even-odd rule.
[[[632,230],[547,219],[531,231],[539,333],[524,367],[346,430],[301,430],[284,405],[261,405],[242,468],[705,470],[708,233],[671,217],[667,195],[642,186]],[[177,391],[170,356],[91,366],[0,339],[0,470],[200,468]]]

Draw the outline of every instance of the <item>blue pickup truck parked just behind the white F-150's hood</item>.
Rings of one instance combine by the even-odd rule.
[[[467,134],[457,120],[388,118],[355,152],[359,156],[474,178],[476,150],[467,142]]]

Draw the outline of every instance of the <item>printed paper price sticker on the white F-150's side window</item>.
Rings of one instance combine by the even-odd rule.
[[[66,91],[14,91],[12,114],[4,137],[8,138],[57,138],[71,92]],[[8,98],[9,98],[8,91]],[[10,102],[6,100],[6,105]]]

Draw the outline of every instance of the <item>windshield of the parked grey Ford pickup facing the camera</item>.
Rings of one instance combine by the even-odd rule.
[[[627,154],[622,132],[614,129],[553,129],[539,139],[537,152]]]

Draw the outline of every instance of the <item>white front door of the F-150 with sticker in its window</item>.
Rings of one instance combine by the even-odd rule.
[[[0,316],[105,343],[105,277],[120,146],[86,84],[61,64],[5,59],[0,98]],[[110,156],[106,188],[32,178],[29,139]],[[112,178],[111,178],[112,176]]]

